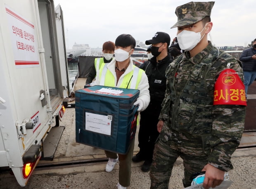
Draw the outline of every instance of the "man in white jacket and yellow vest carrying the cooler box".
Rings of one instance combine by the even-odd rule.
[[[133,54],[136,45],[135,39],[130,34],[122,34],[115,41],[115,58],[100,67],[93,85],[104,85],[109,87],[120,87],[140,90],[139,97],[134,103],[138,106],[137,111],[147,108],[149,97],[149,83],[145,71],[133,65],[130,55]],[[119,189],[126,189],[130,185],[131,163],[134,149],[134,139],[130,144],[127,154],[116,154],[105,151],[109,161],[106,171],[111,172],[119,159]]]

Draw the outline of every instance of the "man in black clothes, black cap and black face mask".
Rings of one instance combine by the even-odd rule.
[[[149,80],[150,103],[147,109],[140,112],[140,130],[138,135],[140,151],[133,156],[133,162],[144,161],[141,170],[149,171],[156,138],[159,135],[157,123],[161,111],[161,103],[166,90],[165,71],[173,61],[169,53],[170,36],[168,33],[156,32],[146,45],[152,44],[151,52],[154,57],[143,63],[140,68],[145,70]]]

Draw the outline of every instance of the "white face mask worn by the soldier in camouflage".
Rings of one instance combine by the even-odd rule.
[[[205,26],[204,26],[204,28],[205,28]],[[200,40],[205,35],[205,33],[204,33],[203,37],[201,37],[201,32],[204,30],[204,28],[200,32],[197,32],[197,33],[195,33],[194,31],[187,31],[187,30],[183,30],[182,32],[180,32],[177,35],[177,40],[178,40],[180,48],[182,50],[189,51],[189,50],[192,50],[195,46],[197,46],[197,44],[200,42]]]

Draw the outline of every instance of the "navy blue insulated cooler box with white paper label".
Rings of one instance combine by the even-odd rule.
[[[95,85],[76,91],[76,142],[126,154],[137,128],[140,91]]]

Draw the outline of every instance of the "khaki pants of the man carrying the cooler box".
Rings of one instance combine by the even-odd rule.
[[[130,186],[130,175],[132,166],[132,157],[135,138],[131,141],[127,154],[118,154],[119,157],[119,184],[123,187]],[[117,158],[117,154],[111,151],[105,151],[107,158]]]

